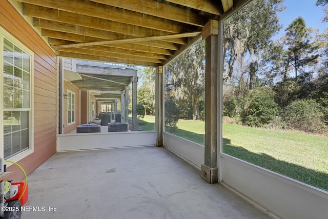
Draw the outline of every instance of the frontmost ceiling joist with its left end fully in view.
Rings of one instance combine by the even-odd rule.
[[[54,21],[58,22],[58,24],[64,23],[67,25],[76,25],[79,27],[93,29],[93,32],[96,32],[95,29],[98,29],[117,33],[119,35],[129,35],[135,37],[170,34],[170,32],[166,31],[152,30],[149,28],[138,27],[130,24],[122,24],[118,22],[109,21],[107,19],[95,18],[87,15],[80,15],[72,12],[56,10],[27,3],[24,4],[23,13],[34,18],[39,18],[35,19],[34,23],[44,20]],[[192,30],[188,32],[192,32]],[[186,44],[186,41],[183,39],[171,39],[168,42],[177,43],[181,45]]]

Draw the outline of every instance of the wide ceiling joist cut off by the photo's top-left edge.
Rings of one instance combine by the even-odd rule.
[[[155,30],[167,31],[171,33],[186,32],[191,25],[182,24],[168,19],[146,15],[134,11],[128,11],[112,6],[94,3],[84,0],[19,0],[23,3],[53,8],[62,11],[73,12],[81,15],[104,18],[119,23],[136,25]]]

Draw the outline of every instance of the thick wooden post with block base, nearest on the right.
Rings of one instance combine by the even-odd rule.
[[[219,22],[211,20],[203,27],[206,40],[205,69],[205,154],[201,165],[201,177],[208,183],[218,182],[217,127],[218,127],[218,42]]]

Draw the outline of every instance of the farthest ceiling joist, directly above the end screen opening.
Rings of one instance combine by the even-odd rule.
[[[87,55],[87,54],[78,54],[78,53],[64,52],[64,51],[58,51],[58,55],[61,57],[93,60],[93,61],[99,61],[99,62],[121,63],[121,64],[127,64],[127,65],[149,66],[149,67],[157,67],[158,66],[158,64],[150,63],[150,62],[140,62],[140,61],[134,61],[134,60],[128,60],[128,59],[113,58],[113,57],[106,57],[106,56],[95,56],[95,55]]]

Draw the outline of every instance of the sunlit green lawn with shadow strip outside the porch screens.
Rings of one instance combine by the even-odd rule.
[[[203,145],[204,122],[179,120],[173,134]],[[328,191],[328,137],[223,124],[223,152]]]

